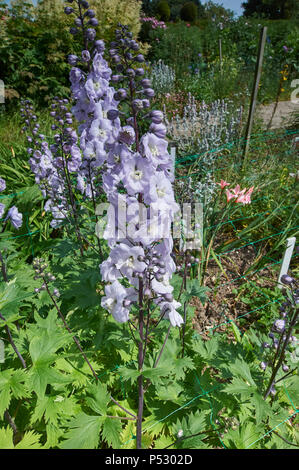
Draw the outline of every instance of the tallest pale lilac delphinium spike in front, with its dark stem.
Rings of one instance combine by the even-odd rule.
[[[103,175],[110,202],[104,236],[111,251],[101,265],[102,278],[107,282],[102,306],[121,323],[130,321],[130,314],[137,316],[136,446],[140,449],[145,392],[142,370],[154,311],[152,305],[160,310],[161,318],[170,320],[172,326],[183,323],[177,312],[180,303],[173,299],[170,285],[176,269],[171,257],[170,229],[178,206],[171,185],[174,162],[167,151],[163,113],[149,111],[154,91],[150,80],[143,78],[144,69],[140,64],[144,57],[138,53],[139,46],[127,27],[119,25],[119,28],[109,51],[116,69],[111,80],[119,86],[114,94],[118,106],[111,109],[107,117],[117,126],[119,122],[122,125],[115,141],[108,146],[110,165]],[[129,116],[126,109],[129,109]],[[142,135],[140,123],[145,119],[151,124],[148,132]],[[120,207],[124,209],[120,210]],[[114,229],[117,229],[117,235]],[[169,332],[166,340],[168,335]]]

